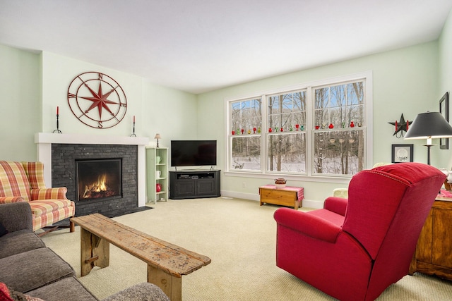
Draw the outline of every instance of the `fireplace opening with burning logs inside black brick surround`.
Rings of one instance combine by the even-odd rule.
[[[78,201],[122,196],[122,160],[76,160]]]

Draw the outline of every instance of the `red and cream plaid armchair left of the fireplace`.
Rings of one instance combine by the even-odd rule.
[[[33,231],[55,230],[54,223],[74,216],[74,202],[66,198],[67,188],[46,188],[41,162],[0,161],[0,206],[28,202],[32,211]],[[70,231],[74,231],[72,222]],[[42,233],[42,234],[44,234]]]

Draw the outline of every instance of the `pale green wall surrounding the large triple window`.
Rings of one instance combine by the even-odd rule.
[[[373,163],[391,161],[391,145],[414,143],[414,160],[427,162],[427,150],[422,142],[403,140],[393,136],[393,126],[388,122],[399,120],[403,113],[405,120],[412,121],[422,111],[437,111],[438,95],[438,43],[429,42],[359,59],[333,63],[295,73],[257,80],[243,85],[198,95],[198,134],[208,135],[219,142],[219,149],[225,150],[225,99],[241,97],[253,92],[272,90],[304,82],[324,80],[354,73],[371,71],[373,75]],[[424,142],[425,143],[425,142]],[[432,160],[439,164],[438,160]],[[220,157],[218,168],[224,168],[225,159]],[[371,168],[371,166],[367,166]],[[258,187],[273,182],[275,176],[259,176],[228,173],[222,178],[222,191],[227,195],[258,199]],[[288,185],[304,187],[304,204],[319,207],[323,199],[338,187],[347,183],[328,179],[325,182],[309,178],[295,180],[287,177]],[[313,202],[309,202],[313,201]]]

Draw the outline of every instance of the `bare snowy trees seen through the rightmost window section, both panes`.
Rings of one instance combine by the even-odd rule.
[[[364,168],[364,82],[315,90],[314,173],[353,175]]]

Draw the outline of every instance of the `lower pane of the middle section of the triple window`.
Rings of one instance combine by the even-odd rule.
[[[268,171],[306,173],[306,140],[302,132],[268,135]]]

